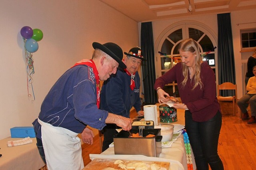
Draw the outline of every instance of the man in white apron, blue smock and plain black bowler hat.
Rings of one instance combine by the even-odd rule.
[[[116,123],[124,130],[132,120],[100,110],[100,80],[115,74],[123,51],[115,43],[92,43],[92,59],[84,59],[68,69],[45,97],[38,119],[33,122],[40,156],[48,170],[84,168],[79,133],[84,143],[92,144],[94,135],[86,127],[103,129]]]

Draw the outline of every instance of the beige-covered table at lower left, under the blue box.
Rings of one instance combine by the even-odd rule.
[[[8,147],[7,141],[16,141],[24,138],[5,138],[0,140],[0,170],[39,170],[45,164],[40,157],[36,146],[36,138],[31,138],[33,143]]]

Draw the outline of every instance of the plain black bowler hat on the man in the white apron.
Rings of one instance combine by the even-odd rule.
[[[108,54],[117,63],[119,63],[119,66],[121,68],[126,68],[126,65],[122,62],[123,51],[122,51],[121,47],[119,47],[117,44],[115,44],[115,43],[100,44],[100,43],[94,42],[94,43],[92,43],[92,47],[94,49],[100,49],[104,53]]]

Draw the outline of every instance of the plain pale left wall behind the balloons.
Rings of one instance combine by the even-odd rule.
[[[138,23],[98,0],[1,0],[0,23],[0,139],[11,127],[32,126],[54,82],[91,59],[92,42],[114,42],[126,52],[139,45]],[[35,101],[27,94],[23,26],[44,33],[33,53]]]

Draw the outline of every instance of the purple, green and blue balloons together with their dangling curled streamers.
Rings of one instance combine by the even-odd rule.
[[[32,58],[32,53],[38,50],[37,41],[41,41],[43,38],[43,32],[40,29],[32,29],[29,26],[24,26],[20,29],[20,34],[23,37],[23,41],[25,44],[25,55],[26,55],[26,66],[27,66],[27,88],[28,84],[31,84],[32,92],[35,100],[34,90],[33,90],[33,79],[32,74],[34,71],[34,61]],[[31,97],[31,94],[28,90],[28,96]]]

